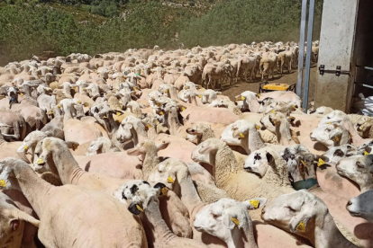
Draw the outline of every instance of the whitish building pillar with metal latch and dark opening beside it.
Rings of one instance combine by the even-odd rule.
[[[359,93],[373,95],[372,13],[372,0],[323,1],[315,107],[350,112]]]

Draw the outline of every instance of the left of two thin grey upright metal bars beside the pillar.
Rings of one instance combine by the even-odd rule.
[[[299,55],[298,55],[298,80],[296,84],[296,94],[302,97],[303,83],[303,64],[305,59],[305,20],[307,18],[307,0],[302,0],[302,17],[299,39]]]

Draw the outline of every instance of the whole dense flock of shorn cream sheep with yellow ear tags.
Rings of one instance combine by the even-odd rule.
[[[371,118],[305,114],[292,92],[214,91],[277,59],[291,70],[297,50],[0,67],[0,247],[372,247]]]

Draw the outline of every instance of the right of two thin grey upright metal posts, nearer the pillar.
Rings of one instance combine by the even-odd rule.
[[[303,108],[307,112],[308,108],[308,88],[310,83],[312,38],[314,34],[314,0],[310,0],[308,12],[308,32],[307,32],[307,54],[305,56],[305,86],[303,88]]]

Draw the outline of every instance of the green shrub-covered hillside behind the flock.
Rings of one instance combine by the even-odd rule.
[[[316,0],[315,37],[323,1]],[[43,50],[94,55],[159,45],[298,40],[298,0],[0,1],[0,64]]]

